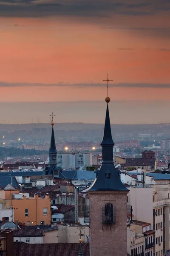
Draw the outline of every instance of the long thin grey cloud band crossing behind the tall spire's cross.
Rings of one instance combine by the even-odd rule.
[[[0,87],[105,87],[106,84],[99,83],[79,83],[79,84],[65,84],[59,82],[56,84],[43,84],[43,83],[8,83],[0,81]],[[150,84],[150,83],[117,83],[109,84],[109,87],[133,87],[133,88],[170,88],[170,84]]]

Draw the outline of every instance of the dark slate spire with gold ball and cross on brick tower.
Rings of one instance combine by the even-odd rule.
[[[107,82],[109,81],[106,80]],[[92,186],[88,189],[89,191],[122,191],[128,189],[123,185],[119,177],[119,172],[116,170],[113,163],[113,146],[114,142],[111,135],[111,123],[109,117],[108,103],[111,101],[109,97],[106,97],[107,102],[105,128],[103,139],[101,142],[102,146],[102,165],[98,172],[96,172],[96,180]]]

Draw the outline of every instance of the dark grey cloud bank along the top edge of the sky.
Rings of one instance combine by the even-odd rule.
[[[162,3],[163,2],[163,3]],[[154,15],[170,9],[169,0],[1,0],[0,16],[48,17],[74,15],[108,17]]]

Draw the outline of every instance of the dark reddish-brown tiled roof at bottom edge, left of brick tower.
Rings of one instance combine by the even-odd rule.
[[[82,243],[83,256],[89,256],[89,243]],[[14,256],[77,256],[79,243],[14,244]]]

